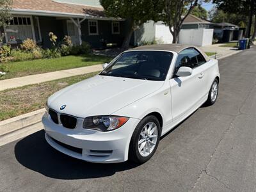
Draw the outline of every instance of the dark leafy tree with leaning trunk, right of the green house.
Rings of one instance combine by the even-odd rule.
[[[154,0],[100,0],[108,17],[122,18],[129,21],[129,30],[122,44],[123,49],[129,48],[132,33],[148,20],[157,20],[160,8]]]

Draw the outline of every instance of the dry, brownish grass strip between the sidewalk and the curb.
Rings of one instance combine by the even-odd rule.
[[[0,92],[0,121],[42,109],[52,93],[95,74],[97,72],[4,90]]]

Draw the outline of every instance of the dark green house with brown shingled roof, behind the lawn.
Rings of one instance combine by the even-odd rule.
[[[65,1],[65,0],[63,0]],[[75,45],[82,41],[94,48],[108,43],[121,45],[127,31],[124,19],[106,17],[101,6],[63,3],[52,0],[13,0],[10,26],[0,29],[5,42],[17,43],[31,38],[43,47],[50,47],[49,32],[61,40],[71,36]],[[93,4],[91,0],[84,0]]]

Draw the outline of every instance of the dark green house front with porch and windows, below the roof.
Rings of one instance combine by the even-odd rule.
[[[65,35],[74,45],[88,42],[92,48],[102,49],[107,44],[122,45],[126,28],[125,20],[97,17],[51,17],[40,15],[13,15],[10,26],[3,29],[4,42],[16,45],[27,38],[35,40],[44,48],[51,47],[49,32],[58,36],[60,42]]]

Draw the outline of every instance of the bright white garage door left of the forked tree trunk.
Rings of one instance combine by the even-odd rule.
[[[159,22],[156,24],[156,40],[163,44],[172,44],[173,37],[168,26]]]

